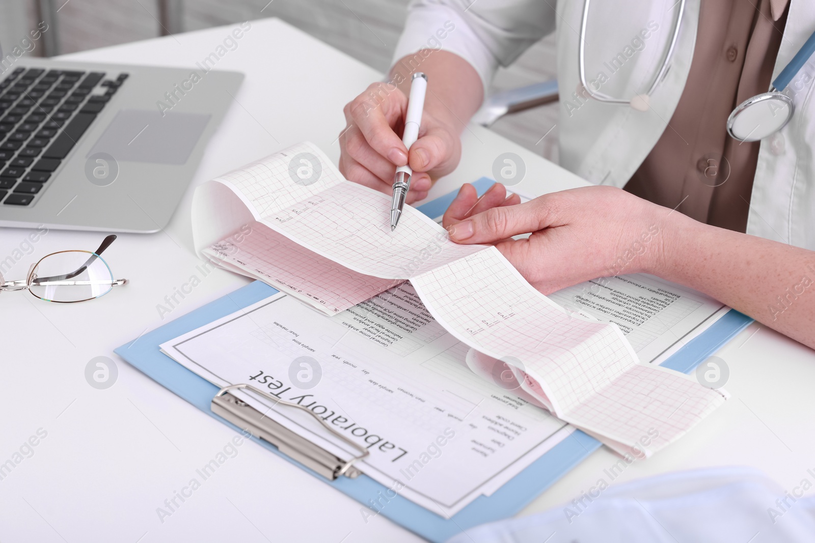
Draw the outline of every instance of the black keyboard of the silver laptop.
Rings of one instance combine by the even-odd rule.
[[[0,81],[0,201],[26,206],[127,79],[16,68]]]

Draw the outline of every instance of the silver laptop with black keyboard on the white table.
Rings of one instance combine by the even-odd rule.
[[[161,230],[243,77],[0,59],[0,226]]]

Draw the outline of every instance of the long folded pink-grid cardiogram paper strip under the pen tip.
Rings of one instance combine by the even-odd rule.
[[[303,184],[293,164],[304,164],[306,173],[319,171],[319,179]],[[253,241],[249,234],[240,243],[229,236],[222,243],[233,243],[244,261],[251,256],[255,268],[261,262],[283,269],[287,290],[330,297],[332,304],[321,308],[330,314],[325,305],[346,309],[378,288],[410,279],[447,331],[518,366],[528,376],[525,388],[548,399],[558,418],[606,443],[650,454],[725,401],[725,394],[684,374],[642,365],[617,326],[566,313],[535,291],[495,247],[452,243],[441,226],[410,207],[391,232],[390,198],[342,179],[310,143],[210,183],[222,183],[240,197],[258,233]],[[301,250],[258,253],[264,243],[291,242]],[[209,247],[206,254],[217,250]],[[329,271],[315,278],[318,267]]]

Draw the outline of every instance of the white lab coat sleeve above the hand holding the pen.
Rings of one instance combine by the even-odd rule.
[[[508,66],[555,29],[555,0],[412,0],[394,61],[422,49],[450,51],[475,68],[485,95]]]

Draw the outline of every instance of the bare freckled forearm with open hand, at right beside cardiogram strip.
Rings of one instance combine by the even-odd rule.
[[[520,204],[503,186],[479,200],[465,185],[443,225],[457,243],[496,245],[544,294],[598,277],[653,274],[815,348],[815,252],[807,249],[704,225],[610,186]]]

